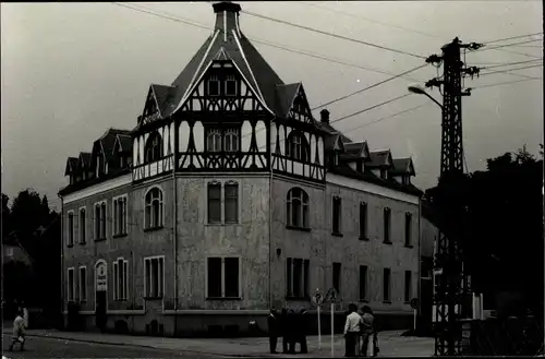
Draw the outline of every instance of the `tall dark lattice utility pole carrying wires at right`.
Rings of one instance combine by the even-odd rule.
[[[444,67],[443,77],[432,79],[426,83],[426,87],[443,87],[440,180],[456,181],[463,175],[462,96],[470,96],[471,88],[462,89],[462,79],[479,74],[479,69],[467,68],[460,57],[462,49],[476,50],[482,46],[475,43],[462,44],[457,37],[441,48],[440,56],[432,55],[426,59],[428,63],[437,67],[443,63]],[[449,200],[455,198],[449,195]],[[464,273],[461,246],[463,206],[449,201],[441,207],[447,213],[444,212],[441,216],[434,263],[434,272],[437,273],[434,298],[435,355],[460,356],[462,355],[460,314],[464,299],[471,294],[468,276]]]

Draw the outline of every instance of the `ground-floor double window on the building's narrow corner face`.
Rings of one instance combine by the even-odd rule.
[[[207,298],[240,297],[240,259],[238,256],[207,259]]]

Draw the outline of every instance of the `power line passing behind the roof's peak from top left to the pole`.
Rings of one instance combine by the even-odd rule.
[[[171,20],[171,21],[175,21],[175,22],[181,22],[181,23],[184,23],[184,24],[187,24],[187,25],[199,27],[199,28],[209,29],[209,31],[214,29],[210,26],[206,26],[204,24],[199,24],[199,23],[196,23],[196,22],[193,22],[193,21],[180,17],[180,16],[174,17],[174,16],[171,16],[171,15],[168,15],[168,14],[165,14],[165,13],[153,12],[153,11],[149,11],[149,10],[144,10],[142,8],[134,8],[134,7],[130,7],[130,5],[123,4],[123,3],[113,2],[113,4],[117,4],[117,5],[120,5],[120,7],[124,7],[124,8],[131,9],[131,10],[140,11],[140,12],[144,12],[144,13],[147,13],[147,14],[152,14],[152,15],[155,15],[155,16],[158,16],[158,17],[164,17],[164,19],[167,19],[167,20]],[[372,71],[372,72],[387,74],[387,75],[393,75],[393,73],[388,72],[388,71],[384,71],[384,70],[380,70],[380,69],[375,69],[375,68],[371,68],[371,67],[364,67],[364,65],[361,65],[361,64],[355,64],[355,63],[351,63],[351,62],[348,62],[348,61],[343,61],[343,60],[339,60],[339,59],[334,59],[334,58],[330,58],[330,57],[327,57],[327,56],[320,55],[320,53],[315,53],[315,52],[313,53],[313,52],[310,52],[310,51],[304,51],[304,50],[299,50],[299,49],[294,49],[294,48],[289,48],[289,47],[287,47],[284,45],[271,43],[271,41],[268,41],[268,40],[265,40],[265,39],[259,39],[259,38],[254,38],[254,37],[247,37],[247,38],[251,39],[254,43],[263,44],[265,46],[274,47],[274,48],[277,48],[277,49],[284,50],[284,51],[294,52],[294,53],[299,53],[299,55],[304,55],[304,56],[307,56],[307,57],[312,57],[312,58],[316,58],[316,59],[320,59],[320,60],[325,60],[325,61],[329,61],[329,62],[334,62],[334,63],[344,64],[344,65],[356,68],[356,69],[361,69],[361,70]],[[416,82],[422,82],[422,80],[412,79],[412,77],[404,77],[404,79],[408,79],[408,80],[411,80],[411,81],[416,81]]]

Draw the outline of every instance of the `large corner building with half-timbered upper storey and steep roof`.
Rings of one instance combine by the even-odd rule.
[[[242,33],[240,5],[213,7],[214,33],[171,85],[150,85],[136,127],[68,159],[64,302],[89,327],[99,308],[108,328],[219,335],[335,287],[339,311],[360,300],[384,325],[412,323],[412,160],[351,141],[326,109],[314,119],[303,84]]]

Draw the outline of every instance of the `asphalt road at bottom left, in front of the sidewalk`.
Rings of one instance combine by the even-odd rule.
[[[106,344],[90,344],[64,339],[28,337],[25,350],[15,345],[8,351],[10,336],[3,336],[3,356],[7,358],[187,358],[204,359],[209,356],[197,352],[178,352],[153,348]]]

